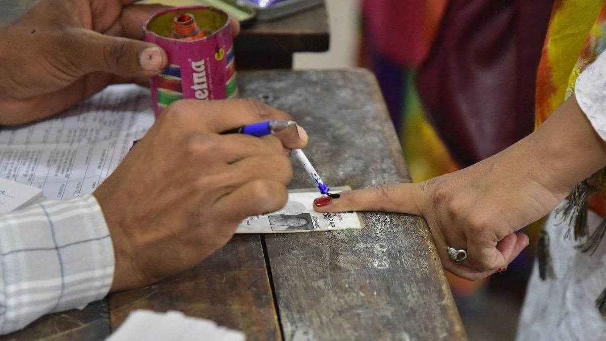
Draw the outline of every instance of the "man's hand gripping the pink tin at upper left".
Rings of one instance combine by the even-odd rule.
[[[0,29],[0,124],[39,120],[108,84],[148,83],[168,64],[141,41],[162,6],[135,0],[42,0]],[[232,32],[239,31],[231,22]]]

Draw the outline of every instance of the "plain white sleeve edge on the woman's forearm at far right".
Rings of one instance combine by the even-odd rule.
[[[593,129],[606,141],[606,53],[581,72],[574,95]]]

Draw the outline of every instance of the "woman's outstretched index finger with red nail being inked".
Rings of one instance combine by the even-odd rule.
[[[343,191],[339,198],[317,198],[313,208],[318,212],[384,211],[421,215],[420,191],[416,183],[386,184]]]

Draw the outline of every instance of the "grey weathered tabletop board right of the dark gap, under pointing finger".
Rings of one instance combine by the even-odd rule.
[[[329,186],[410,181],[371,73],[248,73],[241,91],[307,129],[305,152]],[[297,166],[290,187],[313,187]],[[367,213],[364,221],[361,231],[265,235],[285,340],[298,331],[316,340],[465,339],[424,220]]]

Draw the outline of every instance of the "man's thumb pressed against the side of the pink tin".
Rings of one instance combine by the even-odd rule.
[[[67,39],[65,58],[82,75],[100,71],[127,77],[153,76],[168,64],[166,52],[150,42],[87,29],[73,29]]]

